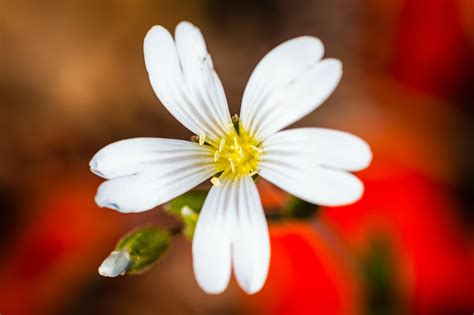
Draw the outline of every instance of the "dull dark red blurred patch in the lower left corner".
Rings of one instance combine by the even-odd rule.
[[[66,184],[49,183],[43,200],[30,201],[30,220],[2,253],[2,314],[50,313],[97,275],[104,253],[125,225],[119,214],[94,204],[96,186],[96,181],[69,176]]]

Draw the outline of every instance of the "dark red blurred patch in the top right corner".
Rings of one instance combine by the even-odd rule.
[[[458,0],[406,0],[394,44],[393,72],[404,85],[454,97],[468,88],[473,50]]]

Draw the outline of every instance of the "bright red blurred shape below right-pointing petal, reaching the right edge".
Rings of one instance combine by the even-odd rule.
[[[404,296],[412,314],[470,313],[474,309],[474,251],[454,216],[447,187],[400,165],[376,161],[360,174],[361,201],[328,208],[324,220],[363,253],[374,235],[394,244]]]

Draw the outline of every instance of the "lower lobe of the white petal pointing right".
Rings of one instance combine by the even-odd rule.
[[[315,165],[304,155],[265,154],[260,175],[292,195],[323,206],[341,206],[357,201],[362,182],[354,175]]]

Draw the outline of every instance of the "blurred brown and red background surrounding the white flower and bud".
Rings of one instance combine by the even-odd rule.
[[[363,199],[271,223],[268,281],[208,296],[176,238],[140,276],[103,278],[128,230],[161,209],[93,201],[88,162],[125,138],[189,138],[155,97],[148,29],[198,25],[238,113],[251,71],[284,40],[321,38],[341,84],[295,126],[355,133],[373,149]],[[0,0],[0,313],[472,314],[472,0]],[[295,100],[297,102],[297,100]],[[285,198],[262,182],[266,206]]]

